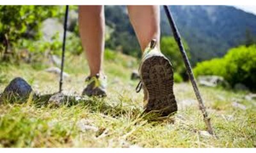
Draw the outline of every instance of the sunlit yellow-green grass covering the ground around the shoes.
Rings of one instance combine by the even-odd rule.
[[[111,56],[112,54],[108,54]],[[138,62],[117,54],[106,59],[108,97],[85,98],[74,105],[38,105],[6,100],[0,105],[0,147],[256,147],[256,101],[246,92],[200,87],[217,138],[205,130],[195,94],[189,83],[175,84],[179,111],[174,117],[156,119],[143,115],[143,92],[130,80]],[[84,57],[68,57],[64,93],[80,95],[88,67]],[[58,77],[28,64],[1,64],[0,92],[14,77],[25,78],[36,92],[58,91]],[[236,101],[246,110],[236,108]]]

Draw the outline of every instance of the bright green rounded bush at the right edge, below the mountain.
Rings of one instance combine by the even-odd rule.
[[[222,59],[198,63],[195,75],[220,75],[232,86],[241,83],[256,90],[256,45],[237,47],[228,51]]]

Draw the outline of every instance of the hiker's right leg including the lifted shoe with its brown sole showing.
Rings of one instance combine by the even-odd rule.
[[[142,52],[152,39],[156,39],[156,47],[160,50],[159,6],[128,6],[127,8]],[[173,94],[173,69],[170,61],[159,52],[153,52],[151,55],[148,52],[148,56],[143,57],[141,61],[139,73],[141,82],[138,92],[143,87],[145,112],[157,111],[162,116],[177,112],[177,103]]]

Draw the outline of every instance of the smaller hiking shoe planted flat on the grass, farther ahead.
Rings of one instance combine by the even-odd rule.
[[[106,83],[107,78],[99,76],[99,74],[95,75],[94,77],[87,77],[85,82],[87,82],[87,86],[84,89],[82,95],[87,96],[99,96],[105,97],[106,94]]]

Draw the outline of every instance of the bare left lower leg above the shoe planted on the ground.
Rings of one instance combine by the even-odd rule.
[[[90,76],[102,73],[104,22],[104,6],[79,6],[79,32],[90,67]]]

